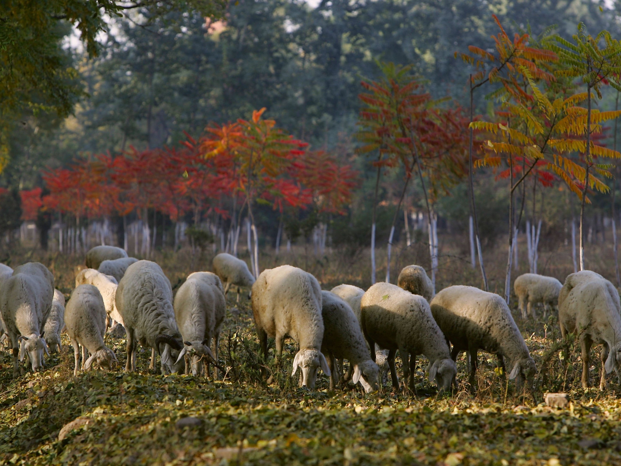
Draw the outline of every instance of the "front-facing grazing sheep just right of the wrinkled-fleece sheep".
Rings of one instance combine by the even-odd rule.
[[[185,345],[179,352],[178,361],[186,353],[191,355],[192,374],[197,375],[203,358],[207,361],[211,359],[216,364],[218,361],[220,331],[227,310],[222,282],[211,272],[189,274],[188,279],[179,287],[174,307],[177,325]],[[209,349],[212,338],[213,352]],[[217,368],[215,374],[217,377]]]

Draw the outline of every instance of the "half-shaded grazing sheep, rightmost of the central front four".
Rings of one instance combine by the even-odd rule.
[[[504,369],[503,357],[513,364],[509,379],[516,379],[518,390],[527,380],[532,387],[535,361],[522,338],[505,300],[478,288],[456,285],[440,291],[431,302],[433,318],[453,344],[451,357],[468,351],[471,361],[470,383],[478,365],[479,349],[496,354]]]

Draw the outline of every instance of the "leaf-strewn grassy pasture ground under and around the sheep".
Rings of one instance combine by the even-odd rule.
[[[451,284],[477,285],[478,277],[460,251],[446,241],[438,272],[438,289]],[[414,262],[417,246],[402,255]],[[420,245],[420,248],[424,248]],[[524,248],[525,249],[525,248]],[[523,249],[523,250],[524,250]],[[487,260],[491,289],[504,285],[504,255],[491,251]],[[499,251],[498,251],[499,252]],[[189,269],[191,251],[156,253],[171,284],[178,289]],[[548,257],[549,254],[549,257]],[[494,261],[494,257],[499,257]],[[573,272],[571,254],[542,253],[546,271]],[[592,260],[604,258],[610,270],[609,246],[593,246]],[[243,256],[242,256],[243,258]],[[328,252],[323,258],[291,254],[263,256],[266,267],[289,263],[306,267],[322,289],[343,282],[368,288],[365,254],[347,259]],[[79,256],[20,253],[11,264],[40,260],[68,298]],[[428,259],[427,259],[428,260]],[[349,262],[348,262],[349,261]],[[209,270],[211,257],[196,269]],[[425,262],[421,264],[425,266]],[[525,264],[523,264],[525,265]],[[428,264],[427,264],[428,266]],[[606,269],[605,267],[610,267]],[[558,271],[558,274],[556,273]],[[106,346],[119,359],[117,368],[92,370],[73,377],[73,351],[61,335],[63,352],[52,353],[42,372],[12,379],[12,356],[0,352],[0,464],[440,464],[569,465],[616,464],[621,461],[619,380],[608,376],[606,390],[583,389],[579,345],[562,342],[556,311],[546,321],[523,321],[517,299],[510,306],[538,373],[535,388],[515,392],[497,368],[496,357],[479,359],[477,390],[468,385],[464,354],[458,358],[458,386],[437,396],[427,380],[427,361],[415,368],[416,393],[399,392],[390,378],[378,392],[365,394],[351,382],[329,390],[329,378],[317,376],[315,390],[297,387],[291,363],[297,347],[284,345],[281,367],[260,359],[252,309],[242,293],[227,295],[220,338],[218,379],[193,375],[160,375],[149,369],[151,352],[140,347],[138,371],[125,373],[125,338],[106,335]],[[271,350],[273,351],[273,343]],[[597,353],[596,353],[597,352]],[[591,379],[597,379],[599,347],[592,350]],[[397,358],[397,372],[402,377]],[[268,385],[261,365],[273,375]],[[23,365],[22,365],[23,367]],[[595,384],[596,385],[596,384]],[[568,392],[569,405],[546,406],[546,392]]]

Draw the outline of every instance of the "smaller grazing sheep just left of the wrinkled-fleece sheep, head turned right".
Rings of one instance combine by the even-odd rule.
[[[78,375],[79,346],[82,346],[82,370],[90,370],[93,364],[102,369],[116,365],[116,354],[104,344],[106,334],[106,307],[99,290],[94,285],[78,285],[65,310],[67,333],[73,345],[75,368]],[[91,356],[86,359],[86,350]]]

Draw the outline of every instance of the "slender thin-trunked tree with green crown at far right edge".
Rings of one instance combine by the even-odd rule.
[[[584,143],[582,164],[584,166],[584,181],[582,181],[582,192],[580,194],[580,270],[584,270],[584,206],[587,202],[587,189],[594,186],[589,180],[592,176],[591,171],[605,174],[608,176],[608,167],[601,167],[594,163],[593,155],[604,157],[619,158],[621,155],[614,151],[603,150],[603,148],[594,151],[592,146],[592,132],[599,130],[599,123],[605,120],[616,119],[619,112],[597,112],[591,107],[593,99],[592,91],[595,91],[599,99],[602,98],[602,84],[610,84],[610,86],[621,90],[619,76],[621,76],[621,42],[613,39],[607,30],[602,30],[596,37],[592,37],[586,33],[584,23],[578,24],[578,34],[572,36],[573,42],[570,42],[560,35],[556,35],[556,44],[551,43],[551,48],[558,54],[564,69],[556,71],[559,76],[568,76],[572,78],[581,78],[582,83],[586,85],[586,114],[581,112],[578,117],[579,123],[584,127]],[[600,48],[602,40],[605,47]],[[578,110],[580,111],[580,110]],[[584,121],[584,124],[583,123]],[[592,126],[593,125],[593,126]],[[604,170],[606,173],[602,172]]]

